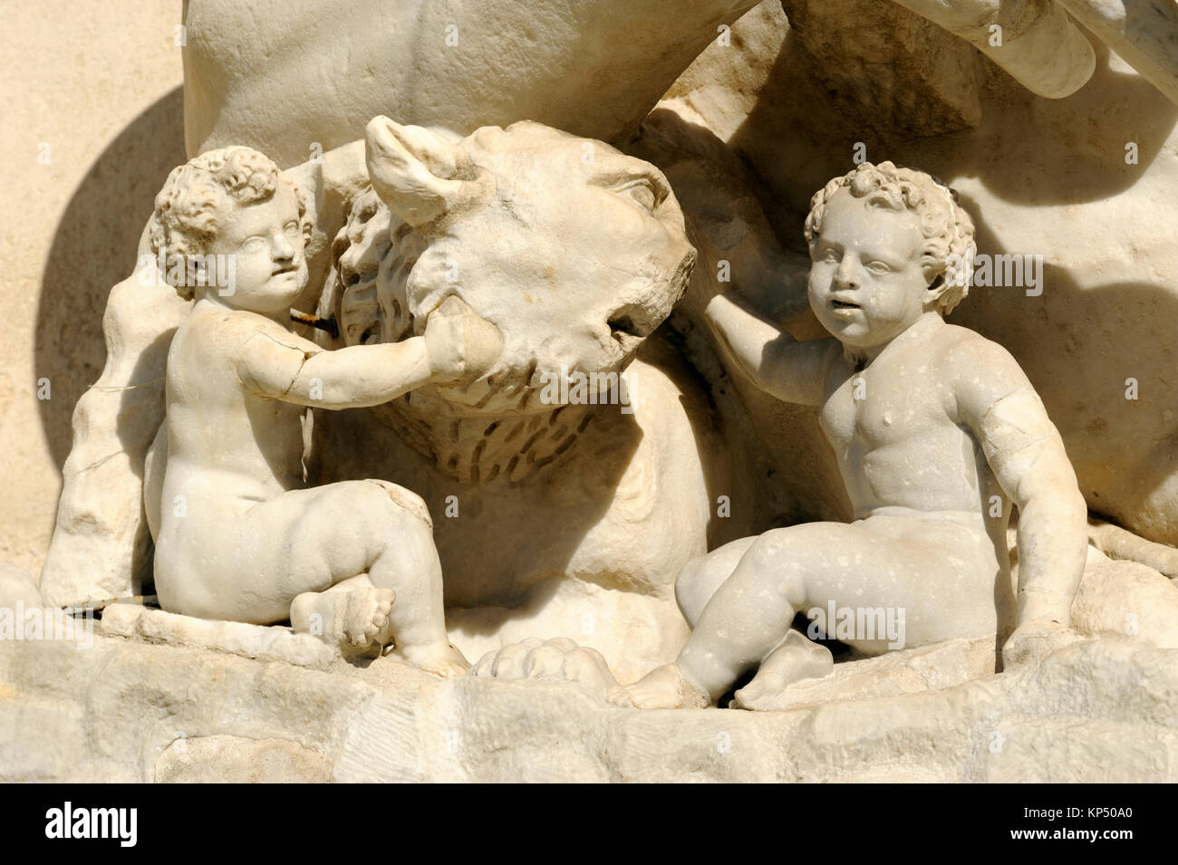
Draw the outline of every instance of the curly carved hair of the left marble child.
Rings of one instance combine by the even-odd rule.
[[[252,147],[221,147],[177,166],[155,195],[148,224],[152,254],[159,255],[163,249],[165,255],[186,260],[206,255],[219,228],[223,197],[238,205],[265,201],[274,194],[280,178],[274,161]],[[291,187],[306,234],[306,201],[297,186]],[[191,285],[178,285],[176,290],[183,298],[192,298]]]

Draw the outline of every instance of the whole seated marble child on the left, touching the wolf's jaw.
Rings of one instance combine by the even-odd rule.
[[[176,168],[155,199],[153,249],[185,262],[177,290],[194,297],[168,352],[166,434],[145,484],[160,604],[257,624],[290,617],[342,646],[391,639],[415,666],[461,673],[424,503],[380,480],[303,488],[303,414],[477,374],[498,334],[443,305],[423,337],[397,344],[323,351],[298,337],[300,217],[294,187],[247,147]],[[231,279],[209,273],[219,262],[232,262],[220,265]]]

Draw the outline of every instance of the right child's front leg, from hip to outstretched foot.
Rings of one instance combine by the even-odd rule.
[[[620,688],[613,701],[640,708],[714,703],[762,663],[769,678],[760,686],[809,678],[825,666],[820,653],[790,650],[772,664],[767,656],[799,611],[829,604],[902,613],[901,645],[993,633],[998,566],[988,539],[948,524],[880,525],[810,523],[761,535],[708,601],[677,660]],[[873,652],[898,647],[891,637],[847,641]]]

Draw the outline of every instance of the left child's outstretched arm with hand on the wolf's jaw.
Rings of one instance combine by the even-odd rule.
[[[476,375],[499,348],[498,331],[458,301],[431,313],[423,337],[401,342],[324,351],[294,333],[258,328],[243,344],[238,373],[263,397],[318,408],[358,408],[428,382]]]

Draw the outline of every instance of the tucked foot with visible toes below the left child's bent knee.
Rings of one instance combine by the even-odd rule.
[[[389,613],[395,599],[391,588],[304,592],[291,604],[291,625],[340,648],[383,646],[392,638]]]

